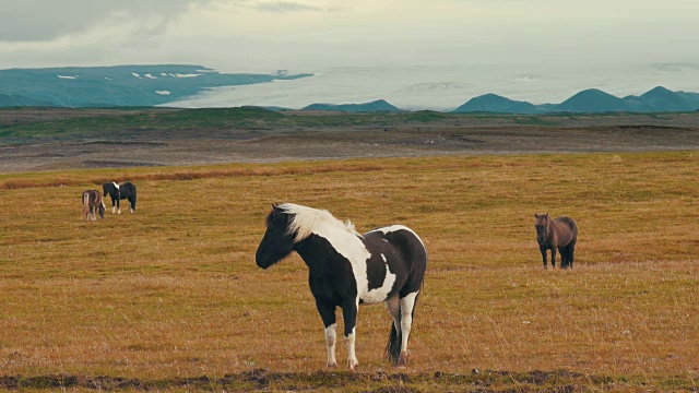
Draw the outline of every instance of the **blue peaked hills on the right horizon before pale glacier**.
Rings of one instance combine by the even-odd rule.
[[[597,114],[612,111],[664,112],[694,111],[699,109],[699,93],[673,92],[657,86],[640,96],[619,98],[597,88],[582,91],[560,104],[534,105],[512,100],[496,94],[474,97],[453,112],[499,114]]]

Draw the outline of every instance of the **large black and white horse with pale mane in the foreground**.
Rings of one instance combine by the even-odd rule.
[[[337,366],[335,309],[342,308],[347,368],[354,370],[358,306],[381,301],[393,317],[387,356],[394,366],[407,365],[407,340],[427,267],[427,250],[413,230],[392,225],[359,235],[328,211],[274,204],[257,264],[268,269],[292,251],[308,265],[310,291],[325,326],[328,367]]]

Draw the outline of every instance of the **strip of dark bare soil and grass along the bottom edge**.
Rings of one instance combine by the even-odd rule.
[[[670,383],[670,385],[667,385]],[[0,389],[55,390],[88,389],[100,391],[318,391],[342,390],[348,392],[408,393],[423,391],[467,392],[583,392],[590,390],[636,391],[679,389],[692,391],[677,381],[657,381],[648,384],[626,378],[588,376],[568,370],[553,371],[497,371],[472,370],[465,373],[386,372],[273,372],[253,369],[224,377],[190,377],[166,379],[138,379],[107,376],[48,374],[37,377],[1,376]],[[672,388],[671,388],[672,386]],[[696,391],[696,390],[695,390]]]

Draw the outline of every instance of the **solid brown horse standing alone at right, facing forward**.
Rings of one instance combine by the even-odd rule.
[[[546,269],[546,250],[550,250],[550,265],[556,267],[556,250],[560,252],[560,269],[572,269],[578,242],[578,225],[570,217],[550,219],[548,213],[534,214],[536,217],[536,241]]]

